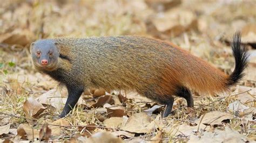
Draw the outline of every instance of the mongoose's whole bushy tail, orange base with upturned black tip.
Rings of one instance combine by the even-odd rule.
[[[226,75],[223,71],[211,66],[196,56],[187,57],[187,59],[192,59],[188,61],[192,66],[189,67],[187,73],[183,74],[182,78],[184,79],[185,87],[190,87],[199,93],[208,92],[215,94],[226,91],[231,85],[238,83],[244,76],[244,70],[247,66],[249,56],[249,53],[241,47],[240,32],[234,34],[231,47],[235,59],[235,68],[230,75]]]

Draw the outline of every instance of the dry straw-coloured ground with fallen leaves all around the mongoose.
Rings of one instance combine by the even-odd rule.
[[[2,2],[0,141],[255,141],[255,6],[227,0]],[[193,109],[177,97],[167,118],[160,117],[163,106],[136,92],[90,89],[57,119],[67,91],[33,68],[29,51],[42,38],[142,35],[173,42],[230,74],[236,31],[251,53],[243,80],[218,95],[193,92]]]

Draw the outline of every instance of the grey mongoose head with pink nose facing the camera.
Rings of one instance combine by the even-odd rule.
[[[31,44],[30,52],[36,69],[53,71],[58,68],[60,48],[57,42],[51,39],[38,40]]]

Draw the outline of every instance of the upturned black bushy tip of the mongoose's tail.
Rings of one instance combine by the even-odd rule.
[[[236,32],[233,35],[233,41],[231,43],[234,59],[235,59],[235,68],[233,73],[228,76],[227,86],[231,86],[235,83],[238,83],[242,77],[244,77],[243,71],[248,65],[249,53],[245,51],[245,48],[241,48],[241,34]]]

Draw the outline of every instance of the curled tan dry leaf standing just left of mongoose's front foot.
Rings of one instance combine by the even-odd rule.
[[[46,108],[35,98],[29,97],[23,104],[23,110],[25,112],[26,118],[37,118]],[[31,120],[26,119],[29,123]]]

